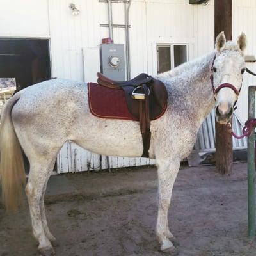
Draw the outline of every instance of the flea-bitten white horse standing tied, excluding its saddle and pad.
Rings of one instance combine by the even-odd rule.
[[[168,227],[168,209],[180,160],[191,152],[196,133],[214,106],[218,122],[230,120],[237,98],[234,89],[240,89],[243,79],[245,46],[244,33],[234,43],[226,42],[221,32],[216,38],[216,51],[156,77],[168,91],[166,112],[151,123],[149,150],[150,158],[156,159],[158,173],[156,234],[163,252],[177,254]],[[214,88],[223,83],[233,86],[221,88],[216,99],[211,70]],[[44,256],[54,255],[51,241],[55,240],[45,216],[45,189],[58,151],[67,140],[108,156],[140,157],[143,152],[139,123],[93,116],[85,83],[54,79],[29,86],[8,100],[0,134],[3,200],[8,210],[20,204],[25,183],[21,146],[30,163],[25,191],[33,235]]]

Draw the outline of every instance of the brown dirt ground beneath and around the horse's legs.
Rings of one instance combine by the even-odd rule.
[[[179,256],[253,256],[247,237],[246,164],[230,176],[214,166],[180,169],[169,213]],[[165,255],[154,234],[155,168],[51,177],[45,198],[57,256]],[[28,207],[7,215],[0,209],[0,255],[32,256]]]

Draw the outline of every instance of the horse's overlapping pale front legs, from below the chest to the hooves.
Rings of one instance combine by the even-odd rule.
[[[180,167],[180,159],[159,159],[157,163],[158,175],[158,216],[156,234],[161,244],[161,250],[170,255],[177,255],[173,246],[174,239],[168,227],[168,209],[170,207],[172,189]]]

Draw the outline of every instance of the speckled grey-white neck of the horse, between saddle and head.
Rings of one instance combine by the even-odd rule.
[[[157,76],[166,84],[170,108],[189,111],[200,123],[214,107],[210,79],[214,55],[211,52]]]

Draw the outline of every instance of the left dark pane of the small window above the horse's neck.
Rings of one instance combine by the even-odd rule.
[[[158,73],[163,73],[171,69],[171,46],[157,45],[158,51]]]

